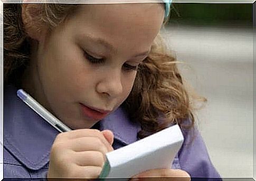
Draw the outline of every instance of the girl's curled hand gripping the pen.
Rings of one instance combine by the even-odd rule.
[[[47,177],[97,178],[112,144],[109,130],[78,129],[59,134],[51,148]]]

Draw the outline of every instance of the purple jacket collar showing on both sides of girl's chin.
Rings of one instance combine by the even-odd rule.
[[[4,147],[27,168],[37,170],[48,164],[57,130],[16,96],[17,89],[4,89]],[[139,124],[131,123],[122,108],[99,122],[99,130],[113,131],[125,145],[137,140]]]

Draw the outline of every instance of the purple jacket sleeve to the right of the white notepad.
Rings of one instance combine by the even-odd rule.
[[[182,129],[182,132],[184,143],[178,152],[181,169],[185,170],[192,180],[222,180],[210,160],[197,128]]]

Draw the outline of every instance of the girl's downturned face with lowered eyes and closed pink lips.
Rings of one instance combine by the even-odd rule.
[[[158,3],[81,5],[37,35],[23,86],[72,129],[90,128],[128,97],[163,20]]]

